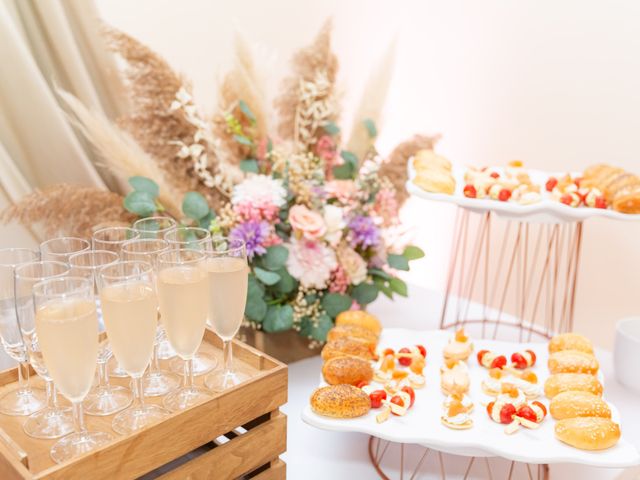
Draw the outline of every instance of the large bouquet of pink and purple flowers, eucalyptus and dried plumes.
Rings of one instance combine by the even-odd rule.
[[[115,30],[107,39],[124,60],[131,111],[115,124],[60,92],[79,130],[132,188],[124,197],[109,192],[110,202],[122,198],[124,209],[112,208],[109,218],[95,223],[163,213],[242,239],[251,268],[249,324],[266,332],[294,329],[316,342],[325,341],[340,312],[366,308],[381,293],[407,295],[398,271],[424,254],[398,241],[405,165],[435,142],[415,136],[387,159],[376,150],[390,54],[343,139],[330,32],[328,22],[294,56],[293,73],[274,101],[275,125],[241,39],[213,118],[199,112],[188,84],[161,57]],[[72,216],[53,225],[36,208],[47,195],[35,193],[5,219],[42,222],[64,233]],[[93,211],[101,211],[99,192],[84,198],[95,199]]]

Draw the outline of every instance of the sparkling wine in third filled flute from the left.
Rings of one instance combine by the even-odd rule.
[[[207,322],[209,280],[198,266],[176,266],[158,275],[160,321],[169,342],[183,359],[192,358]]]

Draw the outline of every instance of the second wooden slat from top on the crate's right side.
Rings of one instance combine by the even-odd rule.
[[[286,450],[287,417],[279,413],[224,445],[158,477],[161,480],[237,478]]]

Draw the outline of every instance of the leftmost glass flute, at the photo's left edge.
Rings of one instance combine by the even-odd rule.
[[[16,318],[13,281],[15,267],[38,257],[38,252],[29,248],[0,250],[0,340],[5,352],[18,362],[18,387],[0,397],[0,412],[5,415],[31,415],[46,406],[44,390],[29,385],[27,347]]]

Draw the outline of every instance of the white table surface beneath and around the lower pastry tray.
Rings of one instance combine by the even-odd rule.
[[[385,326],[421,330],[437,328],[442,296],[418,287],[411,287],[409,293],[408,299],[397,299],[395,302],[380,299],[370,310]],[[629,392],[616,382],[611,353],[599,355],[598,360],[606,378],[607,399],[620,411],[624,435],[640,448],[640,395]],[[288,415],[287,452],[283,455],[287,462],[288,478],[376,479],[378,477],[369,462],[366,435],[319,430],[305,424],[300,418],[311,392],[318,385],[321,365],[319,357],[289,365],[289,402],[283,407]],[[388,473],[391,475],[394,472]],[[623,469],[589,468],[581,465],[551,466],[551,479],[569,478],[640,480],[640,470],[628,469],[625,472]]]

